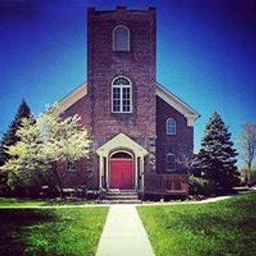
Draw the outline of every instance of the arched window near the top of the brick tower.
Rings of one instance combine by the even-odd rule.
[[[113,29],[113,51],[130,51],[130,31],[123,25]]]

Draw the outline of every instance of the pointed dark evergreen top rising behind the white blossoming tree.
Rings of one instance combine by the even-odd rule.
[[[22,99],[17,113],[12,120],[7,132],[3,135],[0,143],[0,166],[6,163],[6,161],[10,158],[10,156],[8,156],[6,152],[5,147],[14,145],[15,143],[17,143],[17,141],[19,141],[19,137],[17,136],[16,132],[20,127],[22,118],[29,117],[31,117],[31,111],[26,101]]]

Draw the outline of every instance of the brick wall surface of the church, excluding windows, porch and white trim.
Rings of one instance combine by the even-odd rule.
[[[113,51],[113,29],[125,25],[130,30],[130,51]],[[132,83],[132,113],[111,112],[111,82],[116,76],[125,76]],[[93,141],[90,168],[92,178],[86,178],[86,161],[77,163],[76,173],[60,171],[65,186],[87,183],[99,188],[99,156],[97,148],[120,132],[150,152],[144,161],[145,173],[165,173],[166,154],[177,157],[193,150],[193,127],[175,108],[156,95],[156,10],[131,11],[117,8],[113,11],[88,10],[88,93],[62,114],[77,113],[81,124],[90,132]],[[177,134],[166,135],[166,119],[177,122]],[[151,157],[150,161],[149,158]],[[154,156],[156,159],[154,159]],[[88,163],[87,163],[88,164]],[[88,167],[87,167],[88,169]],[[177,165],[175,172],[184,173]],[[90,183],[90,184],[89,184]]]

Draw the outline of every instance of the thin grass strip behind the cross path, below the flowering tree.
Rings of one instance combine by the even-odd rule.
[[[57,199],[38,199],[31,200],[28,198],[4,198],[0,197],[0,207],[13,207],[13,206],[52,206],[52,205],[84,205],[94,204],[94,201],[79,201],[79,200],[57,200]]]

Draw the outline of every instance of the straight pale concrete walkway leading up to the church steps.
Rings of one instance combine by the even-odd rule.
[[[111,206],[96,256],[154,256],[134,205]]]

